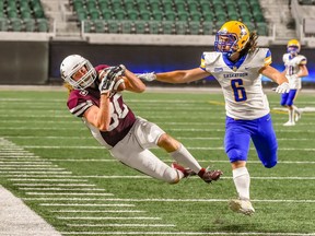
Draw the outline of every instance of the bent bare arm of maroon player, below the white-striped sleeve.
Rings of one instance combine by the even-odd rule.
[[[100,108],[91,106],[84,113],[84,118],[101,131],[107,131],[110,123],[109,92],[101,95]]]

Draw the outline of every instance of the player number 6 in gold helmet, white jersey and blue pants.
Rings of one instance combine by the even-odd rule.
[[[272,127],[268,99],[262,92],[261,75],[279,84],[276,92],[289,91],[287,78],[270,67],[271,52],[257,47],[257,35],[245,24],[230,21],[217,33],[214,52],[203,52],[201,64],[190,70],[144,73],[142,80],[187,83],[213,75],[220,83],[226,109],[225,152],[232,164],[233,181],[238,198],[230,208],[246,215],[255,210],[250,203],[250,178],[246,167],[250,139],[262,165],[277,164],[278,142]]]

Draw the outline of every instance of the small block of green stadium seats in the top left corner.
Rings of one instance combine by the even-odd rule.
[[[0,31],[48,32],[49,24],[40,1],[0,0]]]

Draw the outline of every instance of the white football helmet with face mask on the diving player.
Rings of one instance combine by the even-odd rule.
[[[86,68],[86,73],[78,81],[72,79],[82,67]],[[96,70],[89,60],[80,55],[70,55],[60,64],[60,74],[65,82],[68,82],[74,90],[84,90],[97,78]]]

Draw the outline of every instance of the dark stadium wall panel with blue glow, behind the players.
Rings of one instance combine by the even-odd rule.
[[[284,70],[282,56],[287,51],[285,45],[275,45],[269,48],[272,54],[272,66],[280,71]],[[213,50],[212,46],[100,45],[55,42],[50,44],[49,78],[51,83],[61,81],[59,66],[62,59],[71,54],[79,54],[88,58],[92,64],[107,63],[109,66],[115,66],[124,63],[132,72],[143,73],[199,67],[202,52],[211,50]],[[315,49],[303,49],[302,47],[301,54],[306,56],[310,70],[310,75],[303,79],[303,84],[315,86]],[[268,83],[270,80],[262,78],[262,81]],[[208,83],[217,84],[211,76],[194,84],[200,85]]]

